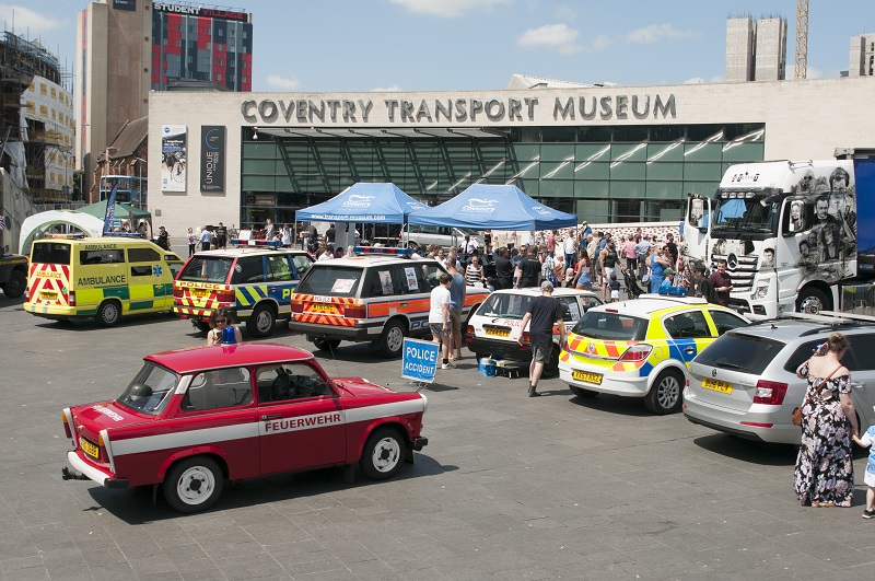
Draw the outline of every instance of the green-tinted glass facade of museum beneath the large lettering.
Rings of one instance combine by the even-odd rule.
[[[423,131],[428,131],[423,129]],[[733,163],[763,160],[765,125],[489,128],[482,137],[277,137],[243,129],[244,228],[325,201],[357,182],[392,182],[430,205],[474,183],[514,184],[581,220],[680,220]],[[451,133],[452,135],[452,133]]]

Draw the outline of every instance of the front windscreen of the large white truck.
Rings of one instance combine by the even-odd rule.
[[[718,235],[771,234],[778,235],[780,199],[771,191],[731,191],[718,194],[711,231]]]

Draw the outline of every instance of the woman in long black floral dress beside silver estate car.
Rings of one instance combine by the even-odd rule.
[[[797,376],[808,380],[794,483],[803,506],[850,507],[853,500],[851,437],[860,433],[860,427],[850,395],[851,374],[841,364],[847,350],[848,339],[833,333],[816,357],[796,370]]]

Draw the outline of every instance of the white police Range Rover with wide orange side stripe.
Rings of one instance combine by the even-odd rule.
[[[370,341],[399,357],[405,337],[430,336],[431,291],[445,272],[433,259],[415,260],[402,248],[357,248],[368,256],[317,262],[292,295],[290,327],[317,349]],[[489,295],[467,287],[463,321]]]

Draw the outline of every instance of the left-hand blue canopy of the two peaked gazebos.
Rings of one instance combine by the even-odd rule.
[[[294,212],[304,222],[368,222],[404,224],[416,211],[428,209],[395,184],[358,183],[322,204]]]

